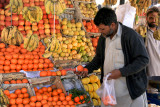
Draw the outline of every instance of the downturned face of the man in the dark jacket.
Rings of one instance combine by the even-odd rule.
[[[105,37],[110,37],[111,35],[113,35],[113,29],[111,26],[108,25],[104,25],[104,24],[100,24],[99,26],[97,26],[99,29],[99,32]]]

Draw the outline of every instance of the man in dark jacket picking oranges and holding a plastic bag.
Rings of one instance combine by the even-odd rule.
[[[88,72],[79,74],[85,76],[101,68],[101,82],[108,73],[109,79],[115,79],[114,107],[147,107],[145,68],[149,57],[142,37],[117,22],[115,11],[110,8],[101,8],[94,23],[101,32],[96,55],[85,66]],[[105,107],[103,103],[101,107]]]

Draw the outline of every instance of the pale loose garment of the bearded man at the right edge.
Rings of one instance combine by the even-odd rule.
[[[149,76],[160,76],[160,41],[155,40],[153,37],[154,31],[147,30],[147,51],[150,57],[148,64]]]

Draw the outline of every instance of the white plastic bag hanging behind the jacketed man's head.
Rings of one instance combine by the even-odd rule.
[[[129,2],[119,5],[116,9],[117,20],[122,24],[133,28],[136,8],[131,6]]]

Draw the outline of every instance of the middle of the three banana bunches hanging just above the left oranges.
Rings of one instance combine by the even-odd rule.
[[[26,38],[24,39],[24,48],[28,51],[33,51],[39,45],[39,39],[37,34],[30,34],[28,33]]]

